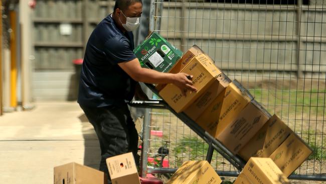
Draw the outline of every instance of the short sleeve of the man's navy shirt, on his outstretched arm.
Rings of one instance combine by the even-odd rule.
[[[130,42],[123,36],[116,36],[104,44],[104,52],[111,61],[121,63],[136,58],[132,52]]]

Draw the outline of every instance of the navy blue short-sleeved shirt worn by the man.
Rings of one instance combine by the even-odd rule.
[[[119,105],[132,100],[136,82],[118,63],[136,56],[132,32],[123,33],[111,15],[94,29],[86,45],[78,103],[87,107]]]

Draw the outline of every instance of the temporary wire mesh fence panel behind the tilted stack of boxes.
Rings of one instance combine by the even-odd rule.
[[[312,155],[294,173],[322,175],[326,172],[325,3],[152,0],[150,29],[183,52],[194,44],[201,47],[216,66],[239,80],[312,148]],[[149,157],[168,147],[165,167],[206,158],[208,145],[169,111],[152,110],[150,130]],[[217,152],[212,165],[236,171]]]

